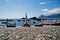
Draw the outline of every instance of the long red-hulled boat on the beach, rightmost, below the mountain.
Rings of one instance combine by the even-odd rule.
[[[60,20],[48,20],[50,22],[44,22],[44,20],[41,20],[41,22],[39,24],[36,24],[35,26],[38,26],[38,27],[43,27],[44,25],[51,25],[51,26],[60,26]]]

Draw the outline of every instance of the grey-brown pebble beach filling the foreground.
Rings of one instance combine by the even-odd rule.
[[[0,28],[0,40],[60,40],[60,27]]]

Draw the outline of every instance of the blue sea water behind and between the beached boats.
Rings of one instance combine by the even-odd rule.
[[[6,25],[6,24],[3,24],[3,22],[6,22],[6,21],[3,21],[3,20],[5,20],[5,19],[3,19],[2,21],[1,21],[1,20],[2,20],[2,19],[0,19],[0,26]],[[9,22],[10,22],[10,23],[16,23],[16,26],[23,26],[23,24],[24,24],[23,19],[9,19],[9,20],[13,20],[13,21],[9,21]],[[20,21],[18,21],[18,20],[20,20]],[[35,23],[33,23],[33,21],[34,21]],[[36,20],[30,20],[30,21],[28,21],[28,22],[29,22],[30,25],[40,23],[40,21],[36,21]]]

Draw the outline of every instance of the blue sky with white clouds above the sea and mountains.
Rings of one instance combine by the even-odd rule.
[[[0,0],[0,18],[22,18],[60,13],[60,0]]]

